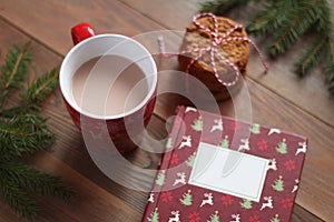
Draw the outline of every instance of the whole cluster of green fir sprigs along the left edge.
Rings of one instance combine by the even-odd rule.
[[[13,46],[0,75],[0,199],[28,220],[41,210],[36,195],[55,196],[65,202],[75,196],[73,190],[60,178],[20,162],[21,158],[49,148],[56,139],[40,110],[58,84],[58,71],[53,68],[24,84],[31,60],[30,43]],[[9,107],[6,101],[14,97],[16,90],[21,92],[21,102]]]

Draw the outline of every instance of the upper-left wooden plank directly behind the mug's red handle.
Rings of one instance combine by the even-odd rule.
[[[135,36],[160,29],[156,22],[119,1],[1,1],[0,14],[28,36],[65,56],[72,47],[70,28],[89,22],[98,33]],[[29,21],[29,22],[27,22]]]

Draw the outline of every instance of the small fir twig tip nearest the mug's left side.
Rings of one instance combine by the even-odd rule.
[[[30,85],[22,89],[21,99],[27,107],[39,109],[43,100],[58,84],[58,70],[53,68],[42,77],[36,79]]]

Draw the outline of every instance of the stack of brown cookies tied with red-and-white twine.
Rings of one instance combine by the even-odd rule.
[[[218,38],[223,37],[223,34],[226,34],[228,30],[233,29],[237,24],[235,21],[223,17],[217,17],[217,21]],[[212,17],[199,18],[197,22],[213,31],[215,30],[215,23]],[[233,31],[228,37],[247,38],[247,33],[245,29],[240,27]],[[243,81],[240,81],[240,79],[246,75],[246,65],[249,59],[249,42],[242,40],[222,41],[217,46],[218,53],[234,63],[240,73],[239,80],[235,84],[225,87],[215,77],[209,52],[203,53],[203,57],[200,57],[198,60],[195,60],[195,62],[189,67],[191,60],[196,59],[199,54],[199,52],[196,50],[194,51],[194,49],[205,49],[210,47],[213,41],[213,33],[199,28],[195,23],[189,24],[186,29],[180,51],[193,49],[193,52],[179,54],[178,61],[181,71],[188,72],[200,80],[206,88],[209,89],[214,98],[217,101],[220,101],[230,98],[230,95],[242,87]],[[230,65],[218,56],[218,53],[215,53],[214,56],[217,73],[224,82],[233,82],[236,78],[235,70],[232,69]],[[206,98],[205,93],[200,94],[197,89],[191,90],[191,85],[189,85],[189,88],[190,91],[195,90],[199,97],[203,95],[204,99]]]

